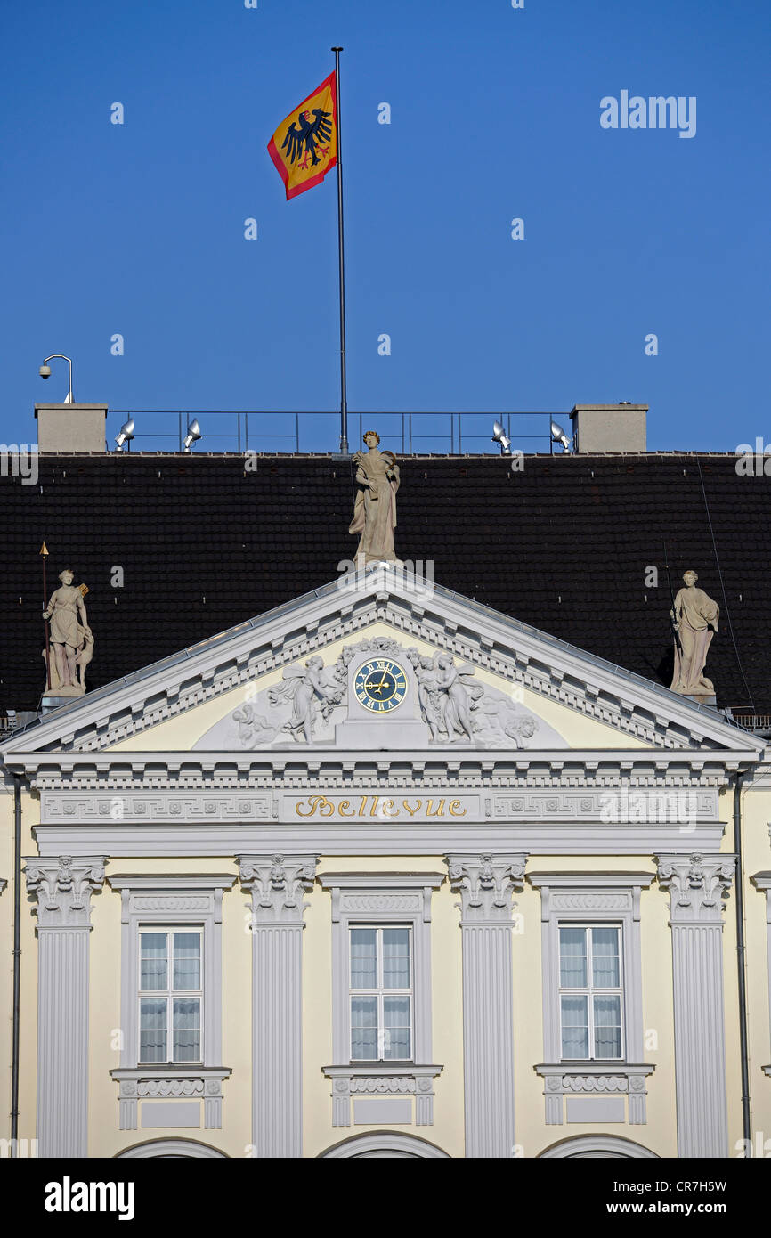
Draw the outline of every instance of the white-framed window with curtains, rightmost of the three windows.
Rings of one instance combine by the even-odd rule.
[[[559,1020],[563,1061],[624,1056],[621,928],[559,926]]]

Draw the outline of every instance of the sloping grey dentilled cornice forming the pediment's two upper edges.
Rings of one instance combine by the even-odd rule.
[[[610,728],[665,749],[731,747],[736,728],[712,709],[564,641],[436,586],[397,583],[379,568],[361,589],[333,582],[314,594],[135,672],[9,740],[98,751],[384,621],[397,633],[520,683]],[[765,743],[743,735],[755,759]]]

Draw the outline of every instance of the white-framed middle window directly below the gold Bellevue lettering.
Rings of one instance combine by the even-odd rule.
[[[412,931],[350,928],[350,1058],[412,1058]]]

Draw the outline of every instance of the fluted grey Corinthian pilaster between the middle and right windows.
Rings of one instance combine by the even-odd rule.
[[[460,895],[465,1155],[511,1156],[514,1002],[511,894],[526,855],[448,855]]]

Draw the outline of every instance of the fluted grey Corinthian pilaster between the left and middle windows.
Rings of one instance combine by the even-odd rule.
[[[251,894],[252,1141],[257,1156],[302,1156],[302,930],[316,855],[244,855]]]

